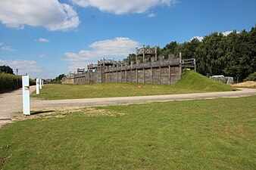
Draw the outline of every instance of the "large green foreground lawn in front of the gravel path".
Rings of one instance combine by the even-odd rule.
[[[0,130],[0,168],[254,169],[255,103],[256,96],[133,104],[97,107],[123,116],[78,110],[14,122]]]

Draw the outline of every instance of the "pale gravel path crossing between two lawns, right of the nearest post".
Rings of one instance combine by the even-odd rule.
[[[242,97],[256,95],[254,88],[241,88],[242,91],[222,91],[194,94],[169,94],[169,95],[152,95],[137,97],[105,97],[105,98],[88,98],[88,99],[69,99],[69,100],[36,100],[31,101],[32,108],[43,107],[91,107],[113,104],[142,103],[164,100],[189,100],[218,97]]]

